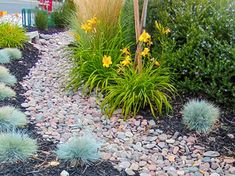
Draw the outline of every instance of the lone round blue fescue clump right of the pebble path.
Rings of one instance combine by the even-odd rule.
[[[204,100],[190,100],[183,108],[184,124],[199,133],[209,132],[219,116],[219,109]]]

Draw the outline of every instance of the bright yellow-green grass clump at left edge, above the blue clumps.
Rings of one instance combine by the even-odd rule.
[[[28,40],[23,28],[10,23],[0,24],[0,48],[22,48]]]

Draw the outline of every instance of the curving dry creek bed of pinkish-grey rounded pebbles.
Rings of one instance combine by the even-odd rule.
[[[72,41],[68,32],[43,36],[35,45],[41,59],[22,86],[22,104],[37,132],[52,143],[92,132],[99,141],[102,158],[119,171],[140,176],[232,176],[233,157],[225,157],[201,145],[195,134],[168,133],[143,116],[120,120],[120,110],[107,119],[94,95],[83,97],[65,90],[71,63],[64,48]]]

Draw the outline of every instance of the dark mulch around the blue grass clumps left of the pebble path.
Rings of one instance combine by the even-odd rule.
[[[29,73],[30,68],[35,66],[39,59],[39,51],[30,43],[25,44],[22,53],[23,57],[21,60],[5,65],[16,76],[18,81],[23,80],[23,77]],[[11,100],[0,101],[0,106],[12,105],[25,111],[21,107],[21,104],[25,101],[25,97],[22,96],[25,90],[19,83],[13,89],[16,91],[17,97]],[[71,176],[126,176],[124,172],[120,173],[113,168],[109,162],[100,162],[87,167],[71,167],[69,163],[62,162],[58,166],[52,167],[48,163],[57,159],[53,154],[56,145],[43,140],[42,136],[36,133],[33,124],[28,124],[23,131],[37,139],[39,145],[37,156],[23,163],[0,164],[1,176],[53,176],[60,175],[63,170],[69,172]]]

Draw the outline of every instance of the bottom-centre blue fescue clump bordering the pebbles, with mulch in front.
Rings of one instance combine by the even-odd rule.
[[[89,164],[100,158],[100,146],[101,143],[91,135],[72,137],[66,143],[57,146],[56,154],[61,160]]]

